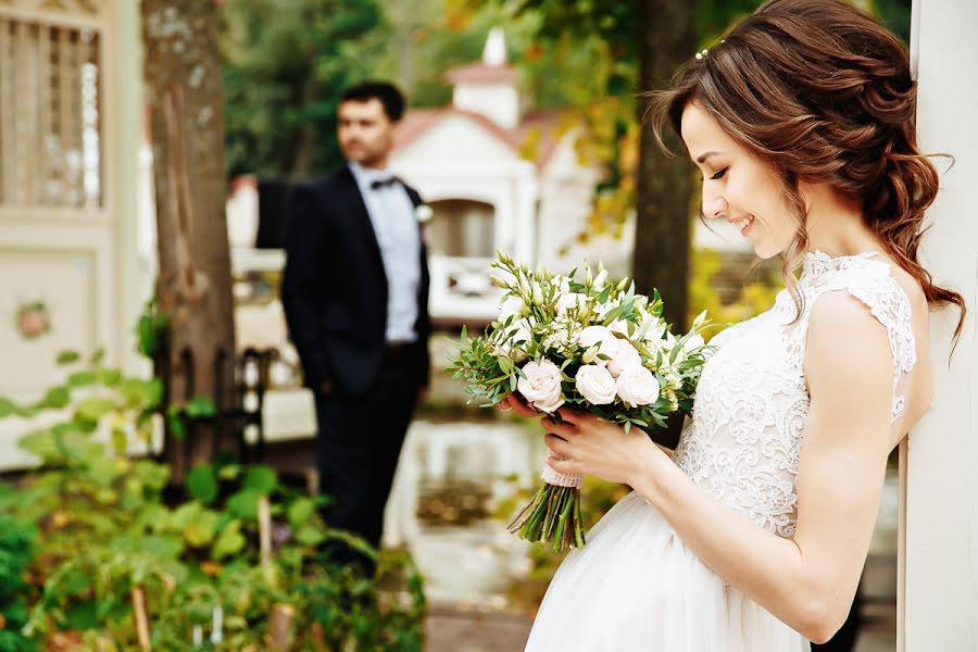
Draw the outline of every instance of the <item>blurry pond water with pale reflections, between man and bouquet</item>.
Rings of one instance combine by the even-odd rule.
[[[385,543],[406,544],[428,599],[500,604],[528,570],[530,546],[490,517],[515,479],[529,485],[544,451],[517,424],[416,421],[385,515]]]

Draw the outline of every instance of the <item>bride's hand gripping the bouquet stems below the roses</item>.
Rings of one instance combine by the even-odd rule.
[[[635,486],[636,478],[657,462],[656,455],[668,457],[640,428],[626,434],[617,424],[568,408],[557,414],[563,423],[552,417],[540,422],[548,431],[544,442],[556,455],[548,464],[557,473],[582,473]]]

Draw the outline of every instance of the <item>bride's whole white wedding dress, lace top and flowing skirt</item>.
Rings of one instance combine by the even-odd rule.
[[[848,291],[889,331],[893,418],[901,377],[916,360],[910,301],[873,253],[806,254],[794,322],[788,291],[766,313],[712,343],[676,464],[697,485],[780,537],[794,534],[795,476],[808,394],[803,361],[818,297]],[[792,322],[794,322],[792,324]],[[840,334],[842,335],[842,334]],[[717,532],[723,537],[723,532]],[[727,585],[636,492],[616,504],[551,581],[526,650],[531,652],[800,652],[803,636]]]

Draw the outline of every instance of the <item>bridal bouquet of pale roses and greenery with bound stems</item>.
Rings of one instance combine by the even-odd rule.
[[[505,290],[498,318],[471,338],[463,328],[449,371],[486,405],[518,392],[538,411],[555,415],[569,405],[644,429],[664,428],[676,412],[689,414],[711,347],[700,335],[705,313],[676,336],[662,319],[659,292],[635,293],[627,278],[612,281],[603,268],[566,275],[536,271],[499,252],[492,279]],[[523,539],[553,550],[584,546],[579,475],[543,467],[543,485],[510,524]]]

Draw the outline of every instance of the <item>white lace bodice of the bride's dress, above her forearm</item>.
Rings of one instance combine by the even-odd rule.
[[[782,537],[794,534],[795,478],[808,412],[804,378],[808,317],[816,300],[848,291],[889,334],[893,412],[903,411],[901,378],[916,362],[910,300],[874,253],[806,254],[799,291],[801,317],[788,290],[774,306],[711,341],[717,352],[703,367],[692,418],[676,463],[711,494]]]

